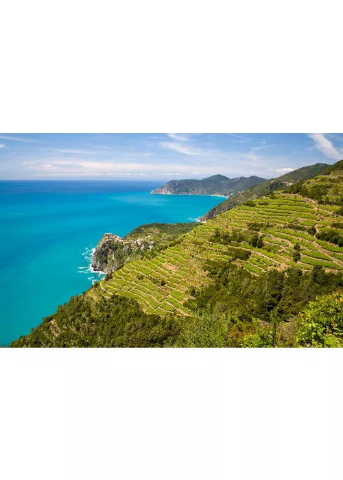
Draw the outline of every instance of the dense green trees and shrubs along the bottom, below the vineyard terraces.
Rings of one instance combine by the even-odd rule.
[[[322,267],[272,269],[256,277],[233,263],[206,265],[214,279],[192,291],[191,315],[148,315],[126,297],[73,297],[12,347],[340,346],[343,275]],[[99,288],[97,286],[96,288]],[[309,302],[312,302],[309,304]],[[300,314],[300,315],[299,315]]]

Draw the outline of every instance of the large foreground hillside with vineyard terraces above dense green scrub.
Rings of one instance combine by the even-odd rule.
[[[126,263],[12,346],[343,346],[342,199],[336,169],[248,200]]]

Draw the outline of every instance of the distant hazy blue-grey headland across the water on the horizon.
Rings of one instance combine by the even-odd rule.
[[[249,187],[263,182],[264,178],[257,176],[228,178],[214,175],[202,180],[171,180],[163,187],[153,190],[160,195],[223,195],[230,196]]]

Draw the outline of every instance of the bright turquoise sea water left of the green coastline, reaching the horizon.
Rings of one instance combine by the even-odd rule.
[[[105,232],[194,221],[224,199],[150,195],[163,182],[0,182],[0,345],[8,345],[99,276],[91,253]]]

